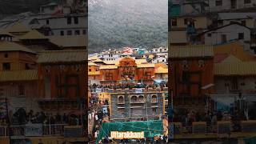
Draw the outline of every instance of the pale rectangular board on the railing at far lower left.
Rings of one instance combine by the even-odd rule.
[[[25,136],[42,136],[42,124],[27,124],[25,127]]]

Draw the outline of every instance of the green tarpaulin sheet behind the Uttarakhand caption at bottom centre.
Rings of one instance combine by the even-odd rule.
[[[154,138],[154,135],[163,134],[162,120],[143,122],[110,122],[103,123],[96,143],[106,136],[110,137],[111,131],[144,131],[145,138]]]

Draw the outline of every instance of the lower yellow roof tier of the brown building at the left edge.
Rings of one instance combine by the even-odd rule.
[[[0,82],[33,81],[38,79],[38,70],[10,70],[0,72]]]

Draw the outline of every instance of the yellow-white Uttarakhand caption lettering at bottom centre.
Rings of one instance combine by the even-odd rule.
[[[142,139],[144,138],[144,131],[141,132],[134,132],[134,131],[126,131],[126,132],[119,132],[119,131],[111,131],[110,137],[114,139]]]

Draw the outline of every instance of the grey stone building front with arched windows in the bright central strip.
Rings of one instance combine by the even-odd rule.
[[[108,90],[110,94],[110,121],[154,120],[165,114],[162,91],[152,88],[128,91]]]

